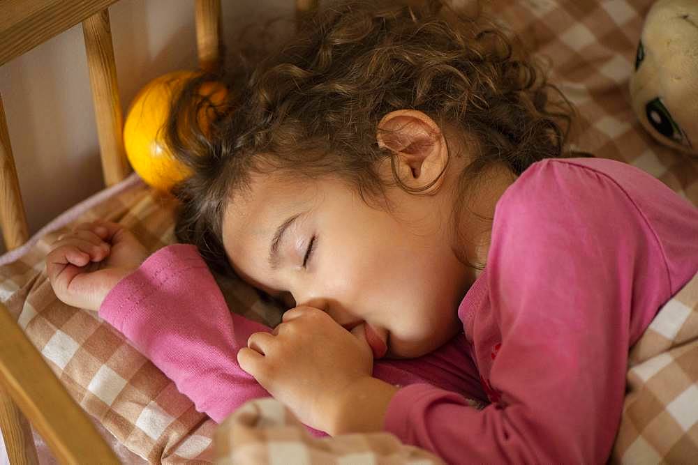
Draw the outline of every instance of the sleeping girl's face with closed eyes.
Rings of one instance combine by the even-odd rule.
[[[387,197],[391,213],[335,179],[255,175],[225,212],[225,250],[243,280],[289,307],[318,307],[348,329],[365,323],[386,356],[421,356],[462,329],[457,308],[475,271],[452,251],[451,199],[400,188]]]

